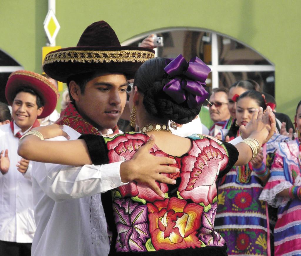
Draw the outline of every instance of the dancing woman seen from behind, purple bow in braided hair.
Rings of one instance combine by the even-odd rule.
[[[20,140],[18,153],[26,159],[84,165],[129,160],[155,135],[150,153],[175,159],[179,172],[166,175],[174,184],[158,183],[162,196],[130,180],[102,195],[112,231],[110,255],[227,255],[225,240],[214,230],[216,178],[234,164],[244,165],[254,158],[263,141],[272,136],[275,119],[271,109],[264,115],[256,109],[249,127],[242,127],[248,138],[235,147],[200,134],[186,138],[171,134],[169,120],[184,124],[200,112],[209,72],[197,57],[188,63],[182,55],[143,63],[130,95],[131,122],[140,132],[84,135],[73,141],[43,141],[29,134]],[[44,138],[64,134],[57,127],[36,131]]]

